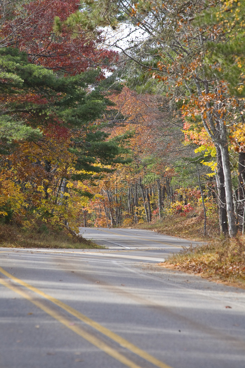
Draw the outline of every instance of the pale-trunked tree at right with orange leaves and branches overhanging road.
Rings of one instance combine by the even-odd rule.
[[[156,79],[168,84],[169,95],[175,98],[176,102],[181,101],[185,117],[191,117],[193,120],[197,117],[201,118],[205,131],[217,147],[217,152],[220,150],[229,234],[234,236],[236,221],[228,152],[228,132],[235,123],[234,111],[240,115],[244,105],[242,102],[238,103],[237,95],[232,94],[234,87],[232,87],[230,79],[226,78],[224,72],[227,70],[223,68],[219,58],[213,53],[215,64],[211,58],[212,50],[219,43],[229,44],[227,34],[231,32],[231,24],[229,22],[226,24],[219,19],[210,26],[200,25],[198,19],[195,21],[195,18],[198,18],[197,14],[210,8],[209,3],[204,1],[197,3],[168,1],[166,6],[163,1],[158,0],[137,3],[134,1],[131,3],[112,1],[104,2],[103,5],[99,0],[93,1],[92,4],[86,1],[84,3],[90,6],[90,11],[70,15],[64,22],[56,18],[56,31],[61,32],[64,29],[62,27],[66,26],[76,32],[79,29],[91,31],[97,27],[96,32],[98,32],[98,26],[105,26],[109,23],[115,25],[116,21],[126,20],[147,34],[147,38],[136,42],[133,48],[130,45],[122,52],[126,57],[145,68],[141,56],[145,45],[158,47],[155,57],[152,57],[148,63],[148,70],[153,72]],[[240,5],[238,4],[238,6]],[[104,9],[104,13],[100,11],[100,7]],[[224,12],[228,11],[231,14],[232,10],[232,8],[228,8],[224,9]],[[122,12],[123,16],[120,17]],[[239,12],[236,11],[236,13]],[[105,14],[104,17],[103,14]],[[232,23],[235,18],[232,15],[231,18],[233,18]],[[242,24],[241,19],[235,33],[236,36],[242,35]],[[210,45],[214,45],[214,47],[210,47]],[[230,50],[232,47],[231,44]],[[242,52],[237,55],[241,60]],[[239,65],[241,63],[236,68],[237,72]],[[237,74],[236,80],[242,80],[241,78],[243,78],[242,72]],[[217,159],[218,157],[219,154]],[[219,172],[221,173],[222,170]]]

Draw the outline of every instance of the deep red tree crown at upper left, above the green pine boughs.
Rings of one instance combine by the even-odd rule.
[[[54,17],[65,20],[71,13],[78,11],[78,1],[37,0],[12,4],[10,14],[0,30],[0,47],[14,46],[28,54],[30,63],[42,65],[53,71],[66,74],[79,74],[87,68],[102,67],[112,70],[111,63],[117,54],[103,49],[102,38],[86,40],[84,35],[72,38],[71,32],[62,36],[53,33]],[[12,18],[12,19],[11,19]],[[100,78],[104,74],[101,72]]]

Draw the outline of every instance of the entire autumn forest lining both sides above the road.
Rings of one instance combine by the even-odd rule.
[[[243,236],[244,11],[244,0],[1,1],[5,241],[11,227]]]

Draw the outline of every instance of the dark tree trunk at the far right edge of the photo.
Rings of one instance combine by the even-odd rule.
[[[245,152],[239,152],[238,159],[238,230],[245,231]]]

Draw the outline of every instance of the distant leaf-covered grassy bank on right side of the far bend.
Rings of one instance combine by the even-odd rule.
[[[192,241],[210,241],[210,237],[218,235],[217,228],[211,223],[207,224],[208,236],[203,235],[203,218],[202,216],[192,216],[187,214],[186,217],[173,215],[163,220],[157,220],[152,223],[139,223],[130,225],[136,229],[154,230],[158,233],[176,236]]]

